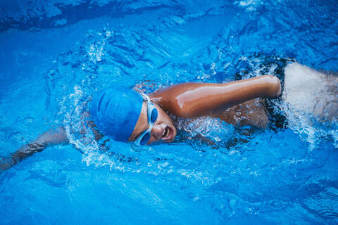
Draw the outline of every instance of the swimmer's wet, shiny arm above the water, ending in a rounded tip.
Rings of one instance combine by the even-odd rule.
[[[152,94],[151,99],[169,113],[189,118],[219,115],[227,108],[253,98],[279,96],[280,91],[277,77],[263,75],[225,84],[175,84]]]

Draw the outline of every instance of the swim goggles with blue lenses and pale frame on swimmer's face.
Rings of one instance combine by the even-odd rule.
[[[147,113],[148,113],[148,124],[149,128],[143,131],[134,141],[134,144],[137,146],[144,146],[151,138],[151,129],[153,129],[154,123],[158,117],[158,111],[153,103],[151,103],[149,96],[141,94],[144,101],[146,101]]]

